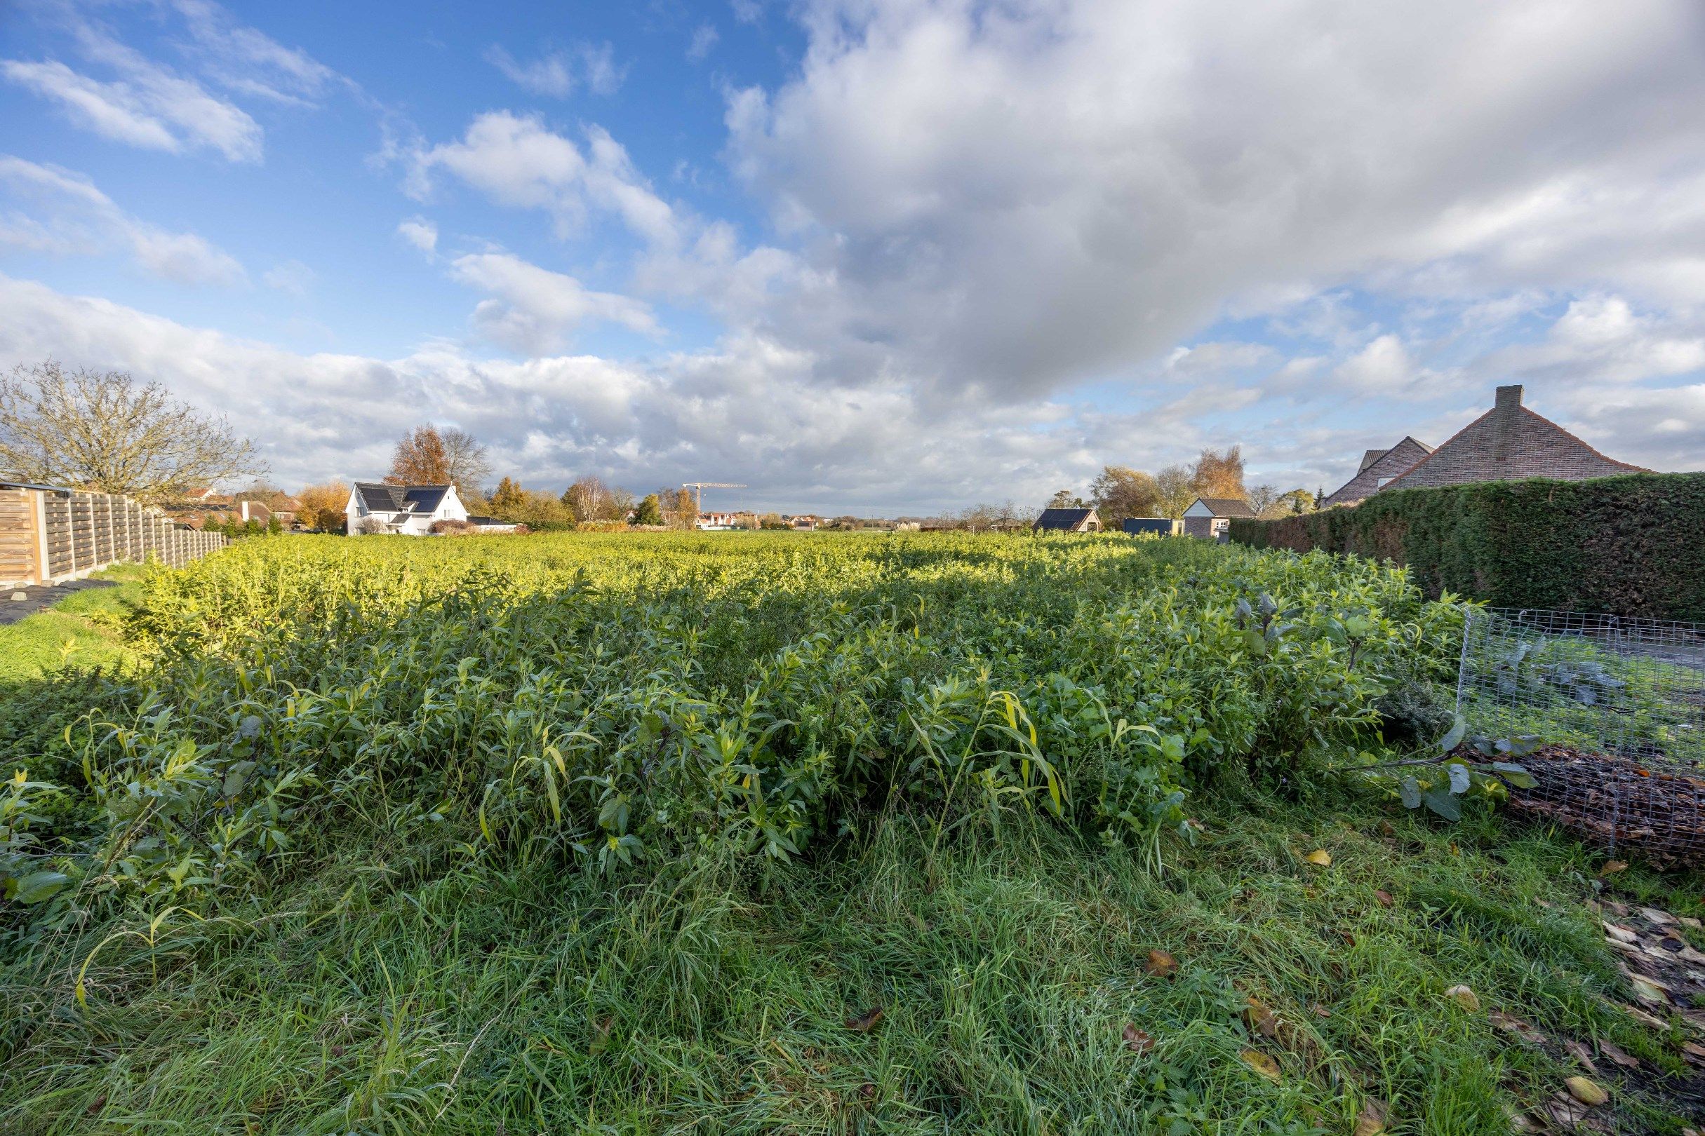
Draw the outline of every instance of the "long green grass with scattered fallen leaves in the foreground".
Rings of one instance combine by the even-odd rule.
[[[430,841],[351,850],[264,918],[68,933],[87,1008],[68,969],[14,966],[9,1017],[32,1025],[0,1131],[1315,1133],[1376,1097],[1393,1133],[1507,1133],[1574,1070],[1454,984],[1674,1064],[1604,1001],[1579,848],[1352,799],[1202,819],[1166,875],[1052,828],[931,852],[904,818],[813,862],[617,887],[549,862],[447,872]],[[1681,913],[1696,884],[1644,881]],[[1146,974],[1151,949],[1173,978]],[[1279,1039],[1250,1036],[1248,995]],[[1681,1126],[1618,1109],[1627,1131]]]

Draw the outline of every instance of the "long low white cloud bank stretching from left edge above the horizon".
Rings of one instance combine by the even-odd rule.
[[[561,489],[598,473],[643,491],[714,470],[766,508],[931,511],[1040,499],[1062,475],[1095,472],[1061,407],[1014,417],[963,405],[921,431],[928,412],[905,383],[808,382],[817,359],[759,337],[644,366],[481,359],[443,342],[373,359],[297,354],[5,276],[0,307],[0,366],[55,356],[160,378],[206,407],[240,397],[269,422],[259,441],[290,484],[375,477],[399,422],[421,419],[474,431],[523,484]]]

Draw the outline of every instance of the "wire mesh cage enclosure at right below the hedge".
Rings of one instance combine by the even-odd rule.
[[[1471,610],[1456,709],[1488,741],[1533,737],[1511,809],[1656,863],[1705,865],[1705,625]]]

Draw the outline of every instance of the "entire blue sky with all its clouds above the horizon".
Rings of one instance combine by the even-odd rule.
[[[1696,470],[1702,53],[1696,0],[14,0],[0,366],[285,487],[436,422],[708,508],[1330,492],[1500,383]]]

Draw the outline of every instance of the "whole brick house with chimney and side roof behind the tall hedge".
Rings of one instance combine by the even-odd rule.
[[[1373,450],[1369,455],[1376,453]],[[1557,422],[1521,405],[1521,387],[1499,387],[1492,409],[1456,431],[1437,450],[1405,438],[1369,462],[1325,504],[1355,504],[1386,489],[1427,489],[1471,482],[1548,477],[1584,482],[1650,470],[1606,458]]]

